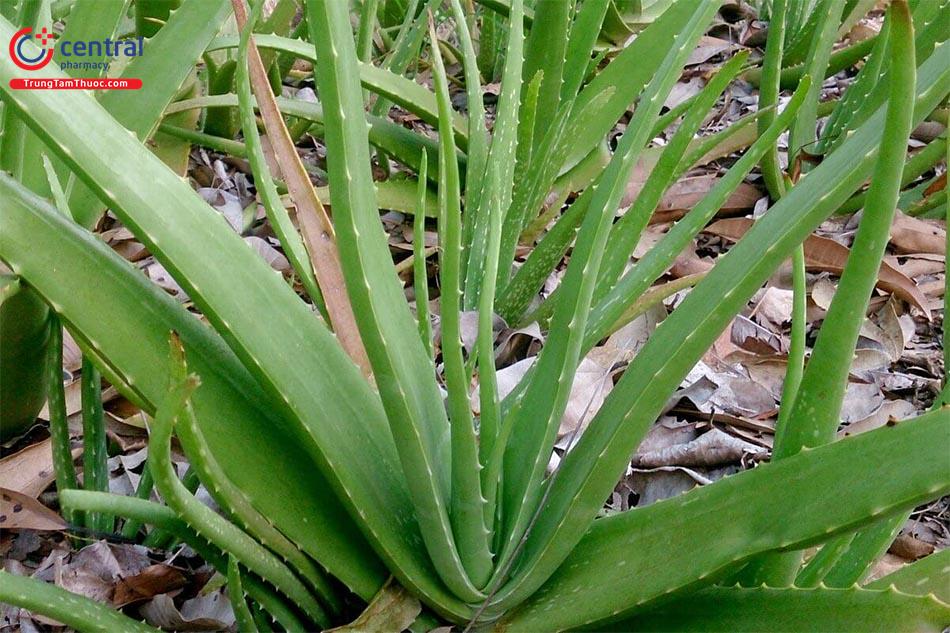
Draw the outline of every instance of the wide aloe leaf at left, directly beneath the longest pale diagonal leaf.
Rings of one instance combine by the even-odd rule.
[[[193,399],[208,448],[251,505],[364,598],[386,579],[286,423],[215,332],[112,249],[0,175],[0,258],[53,305],[110,381],[154,412],[168,379],[168,333],[178,332],[202,378]],[[287,512],[287,508],[294,508]]]

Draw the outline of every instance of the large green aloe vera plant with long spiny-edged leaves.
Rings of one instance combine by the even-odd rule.
[[[157,128],[157,118],[138,122],[136,135],[130,135],[125,126],[132,124],[120,116],[125,110],[110,108],[105,99],[10,89],[9,80],[22,71],[0,59],[4,111],[55,157],[61,176],[75,180],[73,191],[95,197],[69,199],[68,217],[57,209],[62,205],[56,198],[64,196],[50,194],[51,203],[46,191],[0,174],[0,260],[67,325],[101,374],[149,413],[149,474],[167,504],[65,490],[64,508],[98,521],[101,529],[111,528],[111,517],[122,517],[134,522],[127,524],[135,527],[133,536],[144,524],[151,534],[161,530],[188,543],[228,579],[236,617],[248,628],[261,627],[261,610],[271,618],[268,626],[329,627],[346,618],[354,602],[347,594],[370,602],[389,576],[435,618],[477,630],[892,631],[940,630],[950,622],[945,592],[933,580],[946,579],[947,570],[935,570],[932,561],[897,572],[893,582],[856,584],[880,554],[881,535],[892,534],[885,524],[950,492],[944,454],[950,410],[938,406],[894,428],[830,441],[883,255],[882,235],[904,178],[910,129],[950,94],[946,35],[925,26],[915,37],[918,13],[912,17],[903,0],[892,3],[887,47],[879,53],[885,56],[879,68],[894,79],[891,87],[875,92],[867,111],[840,106],[837,125],[849,134],[829,143],[824,161],[800,183],[789,183],[746,237],[696,283],[548,473],[584,354],[629,318],[652,282],[757,164],[767,165],[768,177],[785,187],[774,144],[790,128],[799,137],[815,132],[813,86],[820,82],[803,76],[783,111],[759,120],[754,142],[717,187],[625,270],[663,191],[709,151],[691,137],[746,62],[739,57],[726,64],[694,102],[675,113],[682,117],[680,132],[658,152],[630,214],[614,222],[634,167],[655,149],[648,145],[656,128],[673,122],[673,116],[663,118],[662,104],[718,3],[658,3],[663,11],[656,19],[589,78],[598,37],[611,15],[630,9],[626,3],[536,2],[531,10],[521,0],[485,3],[493,5],[492,28],[498,27],[492,37],[504,33],[485,61],[488,54],[476,50],[470,32],[470,5],[452,0],[447,13],[459,33],[466,115],[452,106],[440,30],[420,10],[423,3],[408,3],[412,9],[400,23],[406,38],[421,42],[428,34],[433,89],[396,74],[407,67],[402,62],[373,64],[373,25],[390,19],[392,4],[363,3],[354,33],[348,3],[308,0],[306,41],[252,36],[261,11],[254,4],[241,38],[212,43],[216,29],[205,25],[204,51],[194,53],[237,46],[238,63],[245,64],[253,39],[265,52],[314,62],[319,104],[274,101],[285,115],[320,123],[333,212],[333,235],[327,237],[341,254],[345,296],[369,371],[339,340],[333,330],[339,322],[321,319],[142,143]],[[172,17],[201,6],[204,0],[186,0]],[[243,16],[243,5],[238,8]],[[226,15],[221,7],[204,10],[215,19]],[[940,10],[938,18],[946,19],[945,5]],[[927,14],[927,20],[938,18]],[[824,74],[833,29],[808,28],[798,13],[787,19],[789,33],[807,42],[799,46],[820,53],[809,69]],[[483,14],[483,28],[485,23]],[[155,38],[172,24],[169,18]],[[0,18],[0,40],[14,32]],[[549,44],[557,54],[546,54]],[[793,50],[798,48],[792,46],[790,55]],[[763,82],[775,88],[781,56],[771,52]],[[501,79],[490,133],[478,85],[489,62],[493,69],[500,65]],[[265,112],[272,113],[274,104],[261,103],[259,81],[256,98],[251,94],[248,72],[255,71],[237,69],[239,94],[233,99],[192,98],[165,112],[239,107],[247,155],[271,221],[282,224],[285,244],[300,244],[277,208],[279,195],[256,130],[255,104],[274,133],[273,117]],[[187,73],[177,76],[180,83]],[[364,90],[435,126],[438,143],[398,131],[385,120],[388,106],[366,114]],[[150,107],[161,110],[172,93],[149,100]],[[634,101],[616,149],[603,150]],[[438,346],[427,306],[419,305],[413,315],[392,263],[379,222],[371,143],[418,170],[411,205],[416,229],[425,222],[428,183],[438,191]],[[116,164],[136,168],[117,171]],[[595,173],[581,178],[591,164]],[[846,291],[832,306],[840,319],[826,322],[801,384],[786,390],[796,395],[781,418],[774,463],[598,518],[603,500],[689,370],[749,297],[868,178],[872,185],[864,193],[859,229],[868,248],[849,261]],[[570,185],[578,195],[552,216],[552,227],[516,270],[519,239],[543,215],[548,193],[563,182],[583,184]],[[77,215],[74,204],[87,211]],[[84,228],[81,218],[105,207],[174,275],[207,323]],[[421,230],[415,240],[414,278],[425,288]],[[532,306],[568,249],[557,291]],[[295,258],[298,268],[305,264],[304,256]],[[308,285],[318,286],[319,277]],[[423,288],[416,289],[417,302],[425,303]],[[316,290],[310,294],[314,298]],[[512,321],[529,319],[533,307],[536,316],[545,315],[547,342],[521,384],[501,397],[493,317],[501,312]],[[469,353],[460,334],[466,309],[478,313],[478,340]],[[480,387],[478,416],[469,405],[473,377]],[[221,514],[200,504],[175,476],[168,454],[173,433]],[[828,493],[832,488],[834,495]],[[835,539],[847,539],[848,547],[834,545]],[[789,580],[736,583],[767,565],[788,569],[797,580],[804,573],[797,552],[821,545],[828,552],[847,550],[842,560],[861,567],[858,577],[844,583],[847,570],[831,566],[833,588]],[[77,629],[125,623],[50,587],[3,572],[0,581],[0,600]],[[877,617],[881,610],[886,617]],[[129,630],[138,626],[125,624]]]

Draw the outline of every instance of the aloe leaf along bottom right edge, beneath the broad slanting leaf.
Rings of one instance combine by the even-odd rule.
[[[656,633],[939,633],[948,621],[946,604],[896,590],[713,587],[611,628]]]

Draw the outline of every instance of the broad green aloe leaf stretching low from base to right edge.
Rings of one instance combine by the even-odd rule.
[[[756,553],[801,549],[939,497],[950,490],[948,441],[944,408],[595,521],[545,586],[506,618],[509,629],[616,619],[715,582]],[[826,494],[831,489],[842,492]]]

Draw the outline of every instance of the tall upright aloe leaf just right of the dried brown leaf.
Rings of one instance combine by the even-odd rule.
[[[453,593],[475,601],[483,594],[462,565],[448,516],[451,444],[445,407],[432,380],[432,360],[415,334],[416,324],[379,222],[366,124],[362,116],[353,115],[363,106],[359,78],[350,70],[357,62],[348,7],[330,0],[311,0],[307,8],[326,118],[334,228],[340,250],[348,254],[342,261],[347,293],[395,439],[403,481],[408,484],[408,498],[387,503],[392,510],[399,508],[400,514],[418,518],[425,547],[416,545],[414,551],[405,553],[423,558],[428,552],[431,564]],[[342,385],[340,393],[345,393]],[[376,428],[367,432],[377,438],[384,434]],[[393,450],[391,444],[389,450]],[[374,486],[382,493],[391,482]],[[367,510],[361,503],[356,507],[361,512]],[[399,528],[390,524],[386,529]],[[392,538],[385,533],[380,536]],[[410,545],[407,539],[400,541]]]

